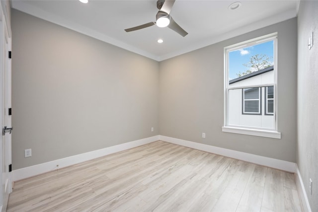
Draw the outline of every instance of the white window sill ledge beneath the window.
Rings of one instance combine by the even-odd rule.
[[[269,130],[256,130],[256,129],[246,129],[246,128],[227,126],[227,127],[222,127],[222,132],[243,134],[243,135],[249,135],[249,136],[267,137],[267,138],[273,138],[273,139],[281,139],[281,134],[279,132],[269,131]]]

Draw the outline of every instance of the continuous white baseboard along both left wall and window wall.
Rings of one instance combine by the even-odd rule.
[[[243,160],[243,161],[247,161],[247,162],[251,162],[251,163],[256,163],[259,165],[264,165],[264,166],[268,166],[268,167],[272,167],[272,168],[276,168],[276,169],[280,169],[280,170],[284,170],[284,171],[288,171],[288,172],[297,173],[296,163],[293,163],[293,162],[288,162],[288,161],[284,161],[284,160],[264,157],[264,156],[260,156],[260,155],[255,155],[255,154],[245,153],[245,152],[241,152],[241,151],[221,148],[221,147],[217,147],[217,146],[211,146],[211,145],[207,145],[207,144],[203,144],[203,143],[185,141],[185,140],[181,140],[181,139],[175,139],[175,138],[171,138],[171,137],[158,135],[158,136],[153,136],[153,137],[146,138],[146,139],[131,141],[131,142],[115,145],[115,146],[97,149],[94,151],[89,151],[89,152],[85,152],[82,154],[73,155],[70,157],[61,158],[58,160],[53,160],[53,161],[49,161],[46,163],[37,164],[34,166],[28,166],[25,168],[16,169],[16,170],[12,171],[12,181],[25,179],[25,178],[32,177],[32,176],[42,174],[45,172],[49,172],[49,171],[54,171],[57,169],[57,166],[56,166],[57,164],[59,164],[59,168],[63,168],[63,167],[71,166],[71,165],[74,165],[74,164],[77,164],[80,162],[91,160],[91,159],[94,159],[97,157],[102,157],[102,156],[105,156],[108,154],[123,151],[123,150],[129,149],[129,148],[133,148],[136,146],[140,146],[140,145],[147,144],[147,143],[154,142],[154,141],[158,141],[158,140],[166,141],[166,142],[170,142],[170,143],[174,143],[174,144],[178,144],[178,145],[182,145],[182,146],[187,146],[190,148],[194,148],[194,149],[198,149],[198,150],[202,150],[202,151],[207,151],[207,152],[211,152],[214,154],[219,154],[219,155],[223,155],[223,156],[227,156],[227,157],[231,157],[231,158],[236,158],[239,160]]]

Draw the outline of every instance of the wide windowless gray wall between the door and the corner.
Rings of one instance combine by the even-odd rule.
[[[13,169],[159,134],[158,62],[11,12]]]

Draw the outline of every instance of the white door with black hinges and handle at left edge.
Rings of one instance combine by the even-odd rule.
[[[12,192],[11,173],[9,165],[11,164],[11,130],[4,130],[11,128],[11,115],[9,108],[11,108],[11,60],[8,58],[9,49],[11,48],[11,41],[8,36],[5,16],[2,7],[0,16],[0,123],[1,123],[1,143],[0,143],[0,209],[2,212],[6,211],[9,193]]]

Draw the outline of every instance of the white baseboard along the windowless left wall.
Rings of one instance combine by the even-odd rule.
[[[32,177],[32,176],[49,172],[49,171],[54,171],[57,169],[57,166],[56,166],[57,164],[59,164],[59,168],[63,168],[63,167],[71,166],[80,162],[91,160],[97,157],[102,157],[108,154],[123,151],[126,149],[130,149],[136,146],[144,145],[144,144],[151,143],[158,140],[159,140],[159,136],[153,136],[146,139],[122,143],[115,146],[110,146],[110,147],[106,147],[102,149],[97,149],[94,151],[85,152],[78,155],[73,155],[70,157],[61,158],[58,160],[49,161],[46,163],[37,164],[34,166],[28,166],[25,168],[16,169],[12,171],[12,175],[11,175],[12,181],[25,179],[25,178]]]

